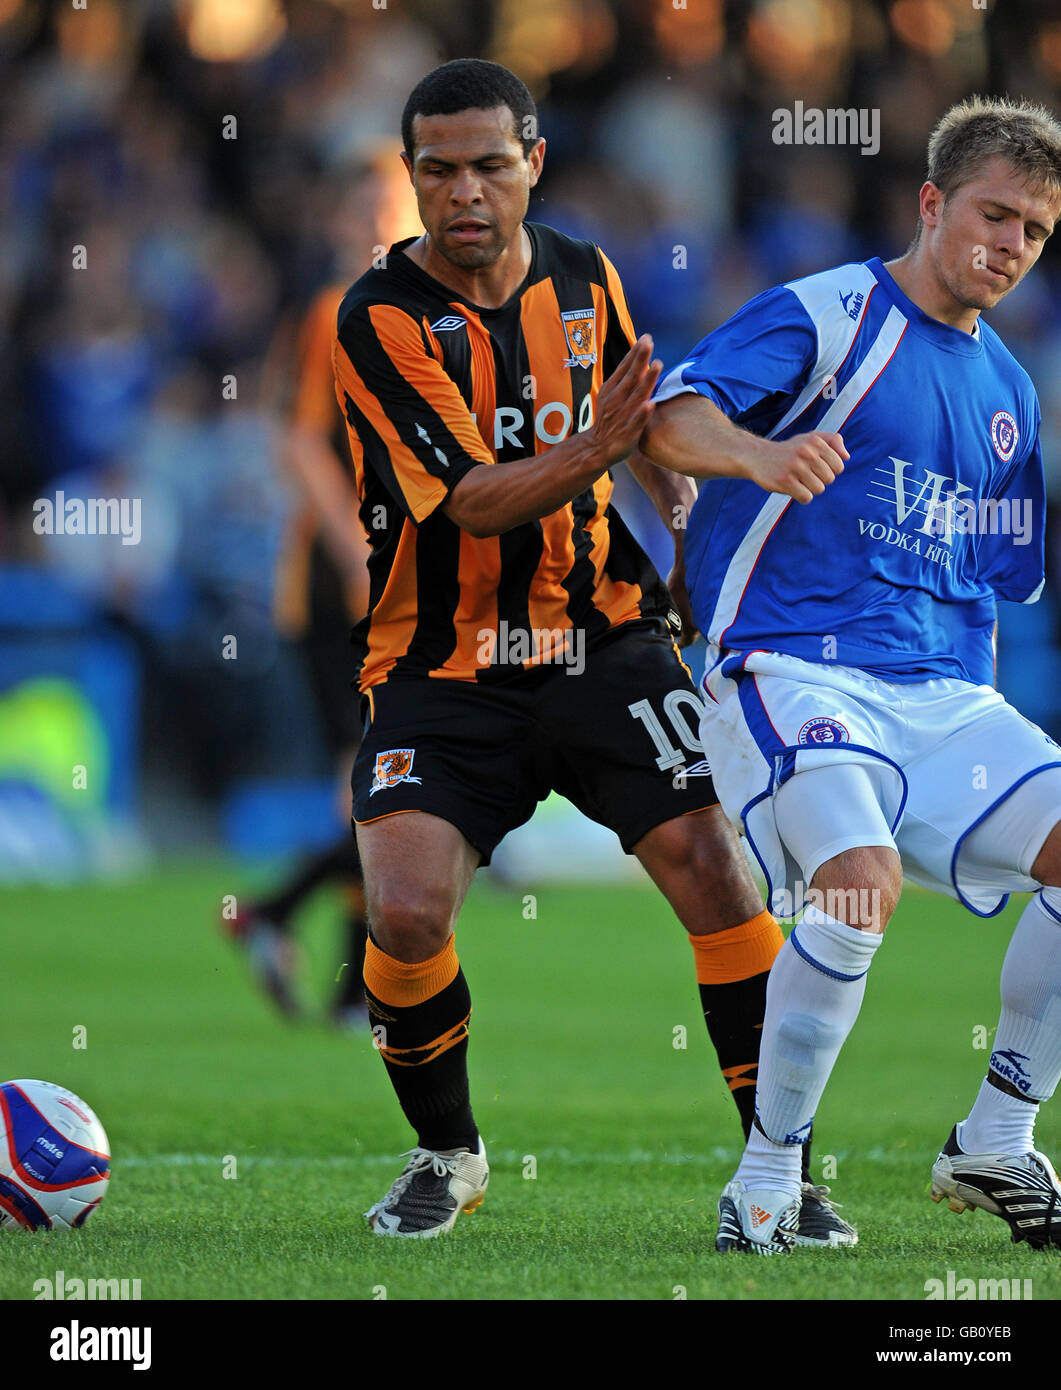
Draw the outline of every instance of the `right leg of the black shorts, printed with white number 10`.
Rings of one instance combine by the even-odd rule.
[[[542,688],[552,785],[619,835],[627,853],[656,826],[718,803],[699,742],[704,699],[669,637],[629,624],[581,674]]]

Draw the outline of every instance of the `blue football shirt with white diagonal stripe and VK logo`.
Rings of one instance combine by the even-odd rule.
[[[765,438],[841,434],[851,455],[805,506],[744,480],[701,485],[686,574],[716,659],[991,684],[996,599],[1043,587],[1046,499],[1039,402],[987,324],[930,318],[880,260],[840,265],[750,300],[656,399],[683,392]]]

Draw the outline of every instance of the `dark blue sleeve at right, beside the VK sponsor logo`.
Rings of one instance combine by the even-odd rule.
[[[978,538],[979,577],[996,598],[1033,603],[1046,575],[1046,484],[1037,421],[1030,450],[996,499],[997,521],[987,514]]]

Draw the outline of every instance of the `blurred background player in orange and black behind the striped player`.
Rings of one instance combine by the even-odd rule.
[[[299,645],[305,660],[321,733],[342,787],[345,805],[337,813],[343,824],[360,737],[356,702],[350,699],[350,623],[364,616],[368,603],[368,545],[357,518],[346,428],[335,403],[332,348],[335,316],[349,277],[370,265],[381,246],[416,225],[416,204],[395,153],[389,142],[377,145],[330,177],[324,229],[335,265],[330,282],[300,317],[298,334],[285,325],[273,348],[285,366],[292,353],[295,359],[284,459],[302,496],[280,557],[274,620]],[[289,342],[292,336],[295,343]],[[222,927],[246,951],[259,984],[281,1012],[298,1017],[302,1002],[293,926],[305,903],[331,887],[342,892],[345,922],[328,1013],[339,1027],[367,1029],[364,892],[357,847],[348,831],[234,919],[222,919]]]

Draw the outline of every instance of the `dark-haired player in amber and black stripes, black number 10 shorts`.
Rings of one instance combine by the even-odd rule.
[[[651,339],[597,246],[524,222],[544,140],[513,74],[435,70],[402,138],[426,232],[352,286],[335,381],[373,548],[353,771],[366,995],[417,1133],[368,1218],[424,1237],[488,1177],[453,924],[476,869],[551,790],[616,831],[688,930],[745,1133],[781,935],[716,805],[672,598],[610,505],[609,468],[652,411]],[[634,467],[670,525],[693,485]],[[851,1243],[808,1194],[805,1238]]]

